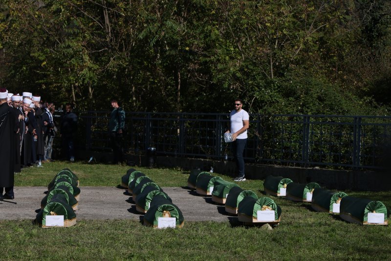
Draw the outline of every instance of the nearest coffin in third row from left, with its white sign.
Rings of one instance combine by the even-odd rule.
[[[258,218],[258,211],[267,211],[267,214],[273,214],[273,216],[269,215],[266,219],[262,219],[263,216]],[[278,224],[281,219],[281,212],[281,208],[271,198],[260,197],[257,199],[247,196],[239,203],[238,220],[246,223]]]

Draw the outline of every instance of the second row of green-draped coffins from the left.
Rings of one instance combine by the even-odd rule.
[[[158,227],[159,217],[174,217],[175,226],[183,226],[184,218],[179,208],[159,185],[141,171],[130,168],[122,176],[121,186],[132,195],[136,210],[145,214],[144,225]]]

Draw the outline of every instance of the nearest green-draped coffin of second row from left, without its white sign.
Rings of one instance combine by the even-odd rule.
[[[175,227],[183,227],[183,214],[177,206],[163,195],[154,196],[151,206],[144,215],[144,225],[158,226],[159,217],[175,217]]]

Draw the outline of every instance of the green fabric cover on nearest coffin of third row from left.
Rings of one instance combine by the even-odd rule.
[[[281,215],[281,208],[274,203],[274,200],[269,197],[255,198],[253,196],[246,196],[238,205],[238,214],[245,214],[258,218],[258,211],[262,210],[263,206],[270,207],[274,211],[274,220],[278,220]]]

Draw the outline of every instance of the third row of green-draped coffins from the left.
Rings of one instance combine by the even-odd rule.
[[[237,214],[240,222],[278,224],[281,208],[271,198],[258,198],[251,190],[243,190],[236,183],[228,182],[209,172],[193,169],[187,186],[203,196],[212,196],[212,201],[224,204],[225,211]]]

